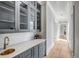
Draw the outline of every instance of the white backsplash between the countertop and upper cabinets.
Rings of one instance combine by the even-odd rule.
[[[10,39],[9,45],[13,45],[23,41],[31,40],[34,35],[33,32],[0,34],[0,49],[3,48],[4,37],[6,36],[8,36]]]

